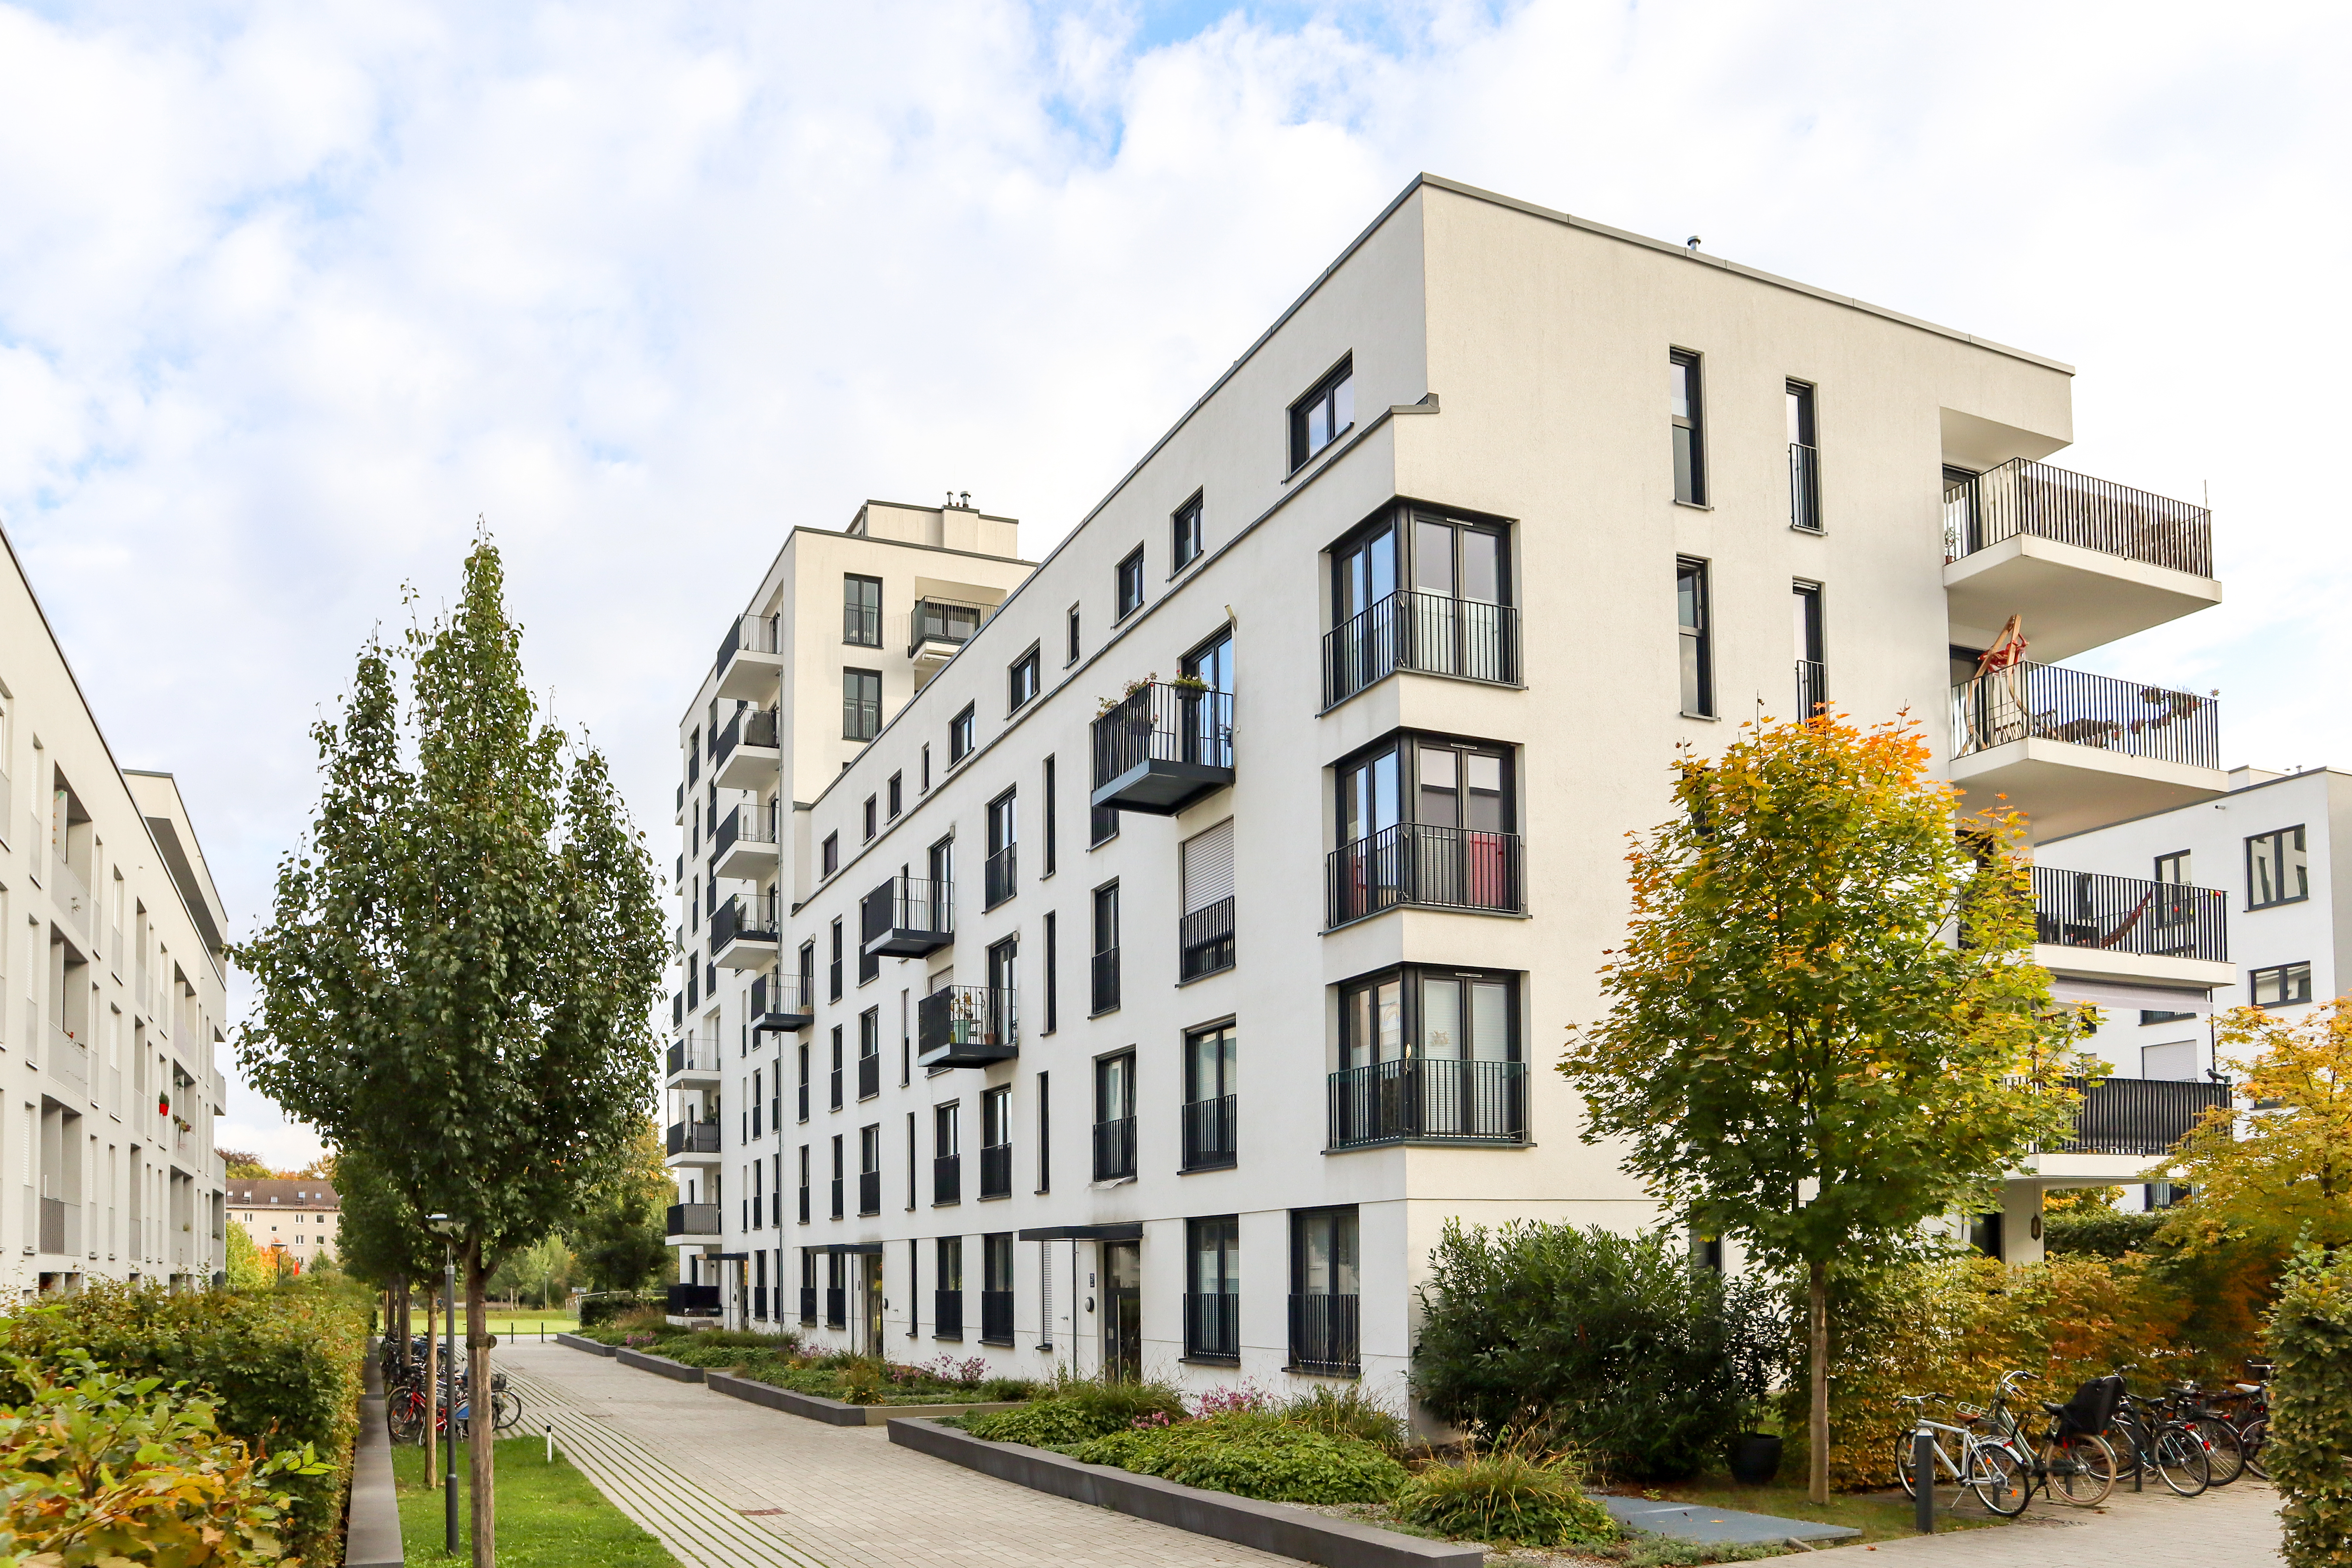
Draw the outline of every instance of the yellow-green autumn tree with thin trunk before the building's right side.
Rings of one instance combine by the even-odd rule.
[[[1609,1013],[1559,1063],[1585,1143],[1670,1215],[1809,1298],[1811,1490],[1828,1500],[1830,1265],[1919,1246],[2070,1131],[2079,1025],[2032,964],[2013,816],[1959,832],[1917,724],[1820,715],[1677,759],[1679,816],[1628,853]],[[1957,938],[1957,940],[1955,940]]]

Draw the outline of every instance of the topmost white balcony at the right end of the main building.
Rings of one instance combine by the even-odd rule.
[[[2044,658],[2070,658],[2220,604],[2201,505],[2025,458],[1945,487],[1943,552],[1952,642],[1971,649],[2023,616]]]

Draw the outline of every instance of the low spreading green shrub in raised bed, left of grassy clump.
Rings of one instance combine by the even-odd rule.
[[[1404,1465],[1362,1439],[1256,1413],[1127,1427],[1070,1455],[1263,1502],[1385,1502],[1406,1483]]]

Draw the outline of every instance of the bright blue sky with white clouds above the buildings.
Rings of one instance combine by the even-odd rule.
[[[2072,663],[2352,766],[2347,52],[2300,0],[0,0],[0,524],[238,936],[477,520],[666,860],[786,529],[955,489],[1044,555],[1428,169],[2074,364],[2056,461],[2209,498],[2227,599]],[[219,1143],[306,1161],[226,1056]]]

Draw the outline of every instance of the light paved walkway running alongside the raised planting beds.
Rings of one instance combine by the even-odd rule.
[[[689,1568],[1296,1568],[564,1345],[501,1345],[499,1363],[524,1429],[553,1420],[555,1446]]]

